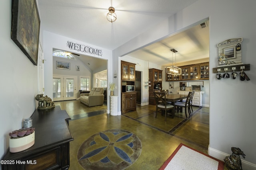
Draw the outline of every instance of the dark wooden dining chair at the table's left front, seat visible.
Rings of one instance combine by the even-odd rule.
[[[161,111],[164,111],[165,121],[166,121],[166,117],[167,117],[167,111],[170,110],[170,109],[172,109],[172,118],[174,118],[174,106],[170,105],[166,102],[165,92],[154,92],[154,96],[155,96],[155,99],[156,99],[156,115],[155,115],[155,118],[157,116],[158,109],[160,109]]]

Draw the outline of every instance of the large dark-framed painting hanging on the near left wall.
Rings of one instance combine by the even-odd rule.
[[[40,18],[36,0],[12,0],[11,39],[37,65]]]

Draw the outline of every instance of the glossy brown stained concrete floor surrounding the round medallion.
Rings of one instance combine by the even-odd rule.
[[[78,163],[77,156],[81,144],[92,135],[109,129],[130,131],[141,141],[140,156],[133,164],[126,166],[126,170],[158,170],[180,143],[206,154],[208,152],[208,107],[193,107],[194,112],[188,118],[185,113],[175,113],[174,118],[169,115],[165,122],[161,113],[154,117],[156,107],[153,105],[137,105],[137,111],[112,116],[106,113],[106,105],[87,107],[79,100],[54,103],[65,109],[72,119],[69,122],[74,137],[74,141],[70,142],[72,170],[84,169]]]

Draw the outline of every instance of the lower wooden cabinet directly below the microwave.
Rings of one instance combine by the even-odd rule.
[[[122,113],[128,111],[136,111],[136,92],[123,92],[122,93]]]

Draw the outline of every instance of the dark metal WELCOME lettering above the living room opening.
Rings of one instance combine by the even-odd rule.
[[[73,43],[71,41],[67,41],[67,47],[71,50],[80,51],[82,53],[89,53],[91,55],[102,56],[101,49],[96,49],[96,48],[90,47],[88,45],[82,45],[82,44],[78,44],[78,43]]]

